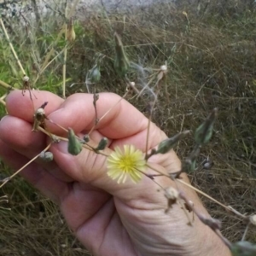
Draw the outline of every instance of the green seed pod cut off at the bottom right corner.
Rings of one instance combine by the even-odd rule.
[[[248,241],[237,241],[231,245],[230,251],[233,256],[255,256],[256,245]]]

